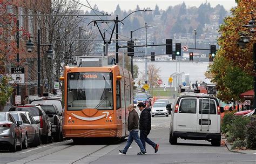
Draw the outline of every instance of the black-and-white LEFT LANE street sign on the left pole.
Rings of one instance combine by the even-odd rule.
[[[11,78],[9,83],[25,83],[25,67],[11,67]]]

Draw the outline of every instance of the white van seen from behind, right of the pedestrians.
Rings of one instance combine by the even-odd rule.
[[[207,94],[184,94],[177,97],[171,112],[171,145],[177,144],[177,138],[207,140],[213,146],[220,146],[220,111],[216,98]],[[203,113],[202,113],[203,111]]]

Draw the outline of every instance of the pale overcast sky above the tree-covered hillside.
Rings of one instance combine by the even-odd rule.
[[[159,9],[166,10],[168,6],[174,6],[178,4],[186,3],[187,8],[191,6],[199,6],[202,3],[205,3],[205,0],[87,0],[90,5],[93,7],[95,4],[98,6],[99,10],[111,13],[116,10],[117,4],[119,4],[121,10],[134,10],[136,9],[137,4],[140,9],[151,8],[154,9],[156,4],[159,6]],[[86,0],[80,0],[81,3],[88,5]],[[230,10],[234,6],[237,6],[235,0],[208,0],[212,7],[215,7],[218,4],[224,6],[226,10]],[[82,8],[83,10],[88,10],[86,7]],[[89,9],[90,11],[90,9]]]

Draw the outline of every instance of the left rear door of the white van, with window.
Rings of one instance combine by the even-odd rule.
[[[176,115],[176,131],[197,132],[197,98],[181,98]]]

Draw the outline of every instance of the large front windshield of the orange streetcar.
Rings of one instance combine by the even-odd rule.
[[[68,73],[68,110],[113,110],[111,72]]]

